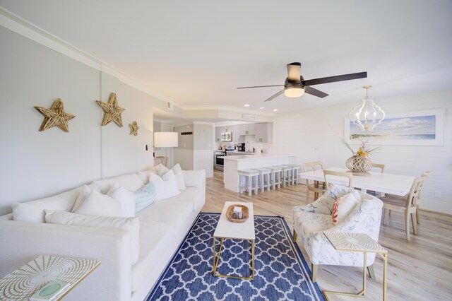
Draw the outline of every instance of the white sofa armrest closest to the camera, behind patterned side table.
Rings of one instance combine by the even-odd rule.
[[[101,261],[65,300],[130,300],[129,231],[0,220],[0,278],[42,254]]]

